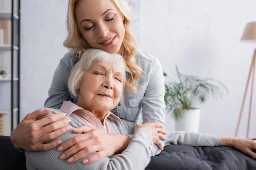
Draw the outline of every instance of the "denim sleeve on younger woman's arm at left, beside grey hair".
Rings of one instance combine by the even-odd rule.
[[[71,54],[71,52],[65,54],[55,70],[52,84],[48,91],[49,97],[44,103],[46,108],[60,108],[63,101],[70,100],[67,82],[73,65]]]

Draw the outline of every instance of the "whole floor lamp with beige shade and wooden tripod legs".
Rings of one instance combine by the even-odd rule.
[[[244,34],[243,34],[241,40],[256,43],[256,22],[246,24],[245,29],[244,29]],[[248,89],[248,85],[250,83],[250,77],[251,77],[251,74],[253,74],[252,75],[251,92],[250,92],[250,108],[249,108],[249,116],[248,116],[248,124],[247,124],[247,134],[246,134],[247,139],[249,136],[249,129],[250,129],[250,116],[251,116],[252,99],[253,99],[253,83],[254,83],[254,77],[255,77],[255,64],[256,64],[255,60],[256,60],[256,48],[253,53],[253,59],[252,59],[251,66],[250,66],[250,72],[249,72],[248,79],[247,79],[247,84],[246,84],[246,88],[245,88],[245,92],[244,92],[244,99],[242,102],[241,111],[240,111],[240,115],[239,115],[239,119],[238,119],[238,123],[237,123],[237,127],[236,127],[236,134],[235,134],[235,136],[237,136],[240,121],[241,121],[241,116],[242,116],[243,109],[244,109],[244,102],[245,102],[245,98],[246,98],[246,94],[247,94],[247,89]]]

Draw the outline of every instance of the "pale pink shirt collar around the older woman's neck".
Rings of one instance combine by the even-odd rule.
[[[76,104],[74,104],[72,102],[68,102],[68,101],[64,101],[62,103],[62,106],[61,106],[61,110],[64,111],[67,114],[67,116],[69,116],[71,113],[73,113],[74,111],[79,110],[79,109],[84,110],[83,108],[79,107],[78,105],[76,105]],[[85,113],[93,114],[93,113],[91,113],[89,111],[86,111]],[[113,117],[114,119],[117,120],[117,122],[122,124],[121,119],[118,116],[116,116],[113,113],[111,113],[110,111],[109,111],[109,113],[108,113],[108,115],[106,117],[108,117],[108,116]]]

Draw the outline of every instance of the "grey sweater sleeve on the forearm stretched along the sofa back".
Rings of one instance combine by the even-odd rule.
[[[186,144],[190,146],[218,146],[221,137],[203,133],[168,131],[166,145],[168,144]]]

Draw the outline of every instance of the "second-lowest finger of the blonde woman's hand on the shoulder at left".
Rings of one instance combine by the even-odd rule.
[[[38,139],[38,142],[41,142],[41,143],[44,143],[46,141],[49,141],[49,140],[52,140],[52,139],[55,139],[57,138],[58,136],[61,136],[63,135],[64,133],[66,133],[68,130],[70,130],[70,126],[67,125],[67,126],[64,126],[62,128],[59,128],[51,133],[47,133],[43,136],[41,136],[39,139]]]

